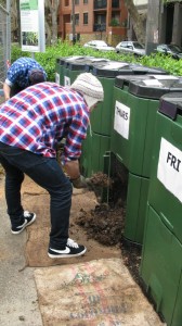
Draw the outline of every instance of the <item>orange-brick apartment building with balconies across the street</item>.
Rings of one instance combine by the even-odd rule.
[[[62,0],[58,37],[84,43],[103,39],[116,46],[127,37],[128,11],[123,0]]]

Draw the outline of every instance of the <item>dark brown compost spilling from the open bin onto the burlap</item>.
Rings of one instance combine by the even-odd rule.
[[[96,204],[91,212],[81,210],[76,223],[86,230],[88,239],[95,239],[104,246],[119,247],[126,266],[135,281],[140,284],[141,247],[128,243],[123,238],[127,199],[125,183],[127,183],[127,178],[121,180],[118,175],[116,178],[115,176],[108,178],[107,175],[98,173],[91,177],[90,181],[99,199],[101,189],[108,190],[109,188],[109,202]]]

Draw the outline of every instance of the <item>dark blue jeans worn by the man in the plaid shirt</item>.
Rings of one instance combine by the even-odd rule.
[[[17,226],[24,221],[21,186],[25,173],[50,193],[50,246],[64,249],[68,238],[73,187],[56,159],[0,142],[0,163],[5,170],[5,199],[12,225]]]

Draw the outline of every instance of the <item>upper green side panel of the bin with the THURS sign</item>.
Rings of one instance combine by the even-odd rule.
[[[147,177],[143,175],[143,159],[150,101],[121,89],[115,92],[115,100],[112,151],[131,173]]]

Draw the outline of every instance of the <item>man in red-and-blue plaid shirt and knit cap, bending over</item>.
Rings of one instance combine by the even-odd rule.
[[[50,195],[48,255],[52,259],[77,256],[87,250],[69,238],[72,193],[73,186],[87,186],[78,159],[90,113],[103,98],[100,80],[83,73],[69,88],[40,83],[0,106],[0,163],[5,171],[11,231],[18,235],[36,220],[36,214],[22,205],[21,186],[26,174]],[[56,160],[56,146],[63,138],[62,168]]]

